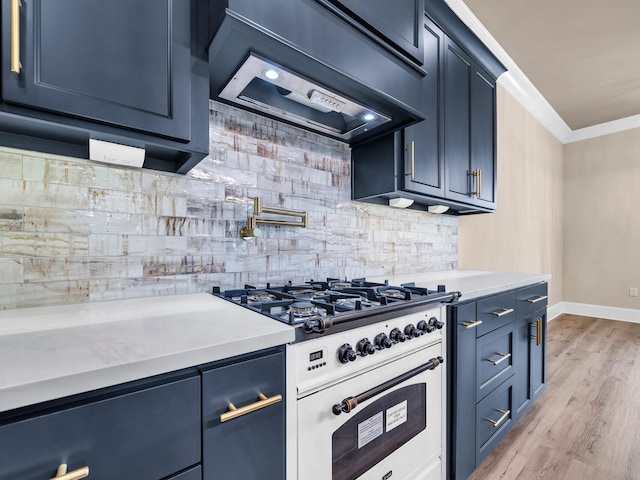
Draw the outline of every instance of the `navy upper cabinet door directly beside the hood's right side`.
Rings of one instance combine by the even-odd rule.
[[[442,31],[425,18],[424,104],[426,120],[404,129],[403,190],[444,196],[444,168],[440,155],[441,92],[440,68],[444,36]]]

